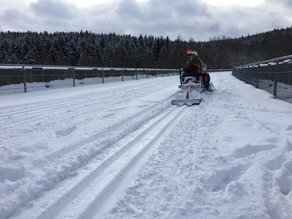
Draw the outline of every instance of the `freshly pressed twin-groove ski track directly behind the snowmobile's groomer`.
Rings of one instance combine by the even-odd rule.
[[[34,206],[24,211],[21,218],[89,218],[107,200],[114,190],[123,191],[120,183],[143,156],[153,151],[175,125],[186,106],[169,106],[162,113],[145,122],[136,131],[123,137],[78,170],[79,175],[64,180],[54,190],[47,192]],[[150,150],[151,149],[151,150]],[[126,177],[127,176],[127,177]],[[16,217],[17,218],[17,217]]]

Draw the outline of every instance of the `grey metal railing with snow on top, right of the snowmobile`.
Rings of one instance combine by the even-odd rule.
[[[232,69],[239,80],[292,103],[292,55]]]

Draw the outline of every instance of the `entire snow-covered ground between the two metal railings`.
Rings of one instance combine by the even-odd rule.
[[[292,107],[210,73],[0,96],[0,218],[292,218]]]

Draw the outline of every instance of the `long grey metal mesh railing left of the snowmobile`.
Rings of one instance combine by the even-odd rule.
[[[174,75],[178,69],[0,64],[0,95]]]

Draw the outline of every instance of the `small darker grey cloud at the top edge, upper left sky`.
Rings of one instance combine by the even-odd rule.
[[[38,16],[73,18],[76,16],[75,4],[56,0],[38,0],[30,4],[30,9]]]

